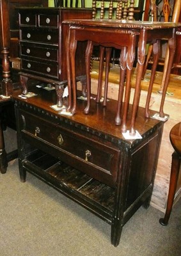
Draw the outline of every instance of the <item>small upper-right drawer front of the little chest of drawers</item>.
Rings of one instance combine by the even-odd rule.
[[[38,15],[38,26],[58,28],[58,15],[40,14]]]

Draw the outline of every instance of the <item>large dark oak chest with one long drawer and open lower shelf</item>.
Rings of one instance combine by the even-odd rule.
[[[150,204],[163,122],[145,118],[139,108],[135,125],[142,138],[125,140],[114,125],[114,100],[107,108],[91,102],[85,116],[78,99],[76,114],[61,116],[50,107],[54,91],[33,90],[37,95],[29,99],[13,95],[20,179],[30,172],[102,218],[117,246],[123,225]]]

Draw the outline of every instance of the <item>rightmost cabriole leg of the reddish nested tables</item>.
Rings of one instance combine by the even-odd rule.
[[[165,81],[164,81],[164,87],[163,87],[163,91],[162,91],[161,106],[160,106],[160,110],[159,110],[160,117],[164,117],[164,111],[163,111],[164,100],[166,97],[166,91],[167,91],[168,83],[169,83],[169,74],[171,72],[171,67],[173,65],[173,58],[175,55],[175,45],[176,45],[176,37],[175,37],[175,29],[173,29],[173,36],[172,36],[172,38],[169,38],[169,40],[168,40],[169,58],[168,58],[168,67],[167,67],[167,71],[166,71],[166,77],[165,77]]]

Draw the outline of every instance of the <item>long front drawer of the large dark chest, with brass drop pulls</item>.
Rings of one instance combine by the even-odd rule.
[[[22,111],[22,132],[52,145],[62,161],[109,186],[116,182],[120,150]],[[51,150],[52,151],[52,150]]]

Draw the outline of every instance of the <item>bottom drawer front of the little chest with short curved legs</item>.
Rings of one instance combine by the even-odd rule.
[[[54,62],[42,63],[21,59],[21,69],[36,74],[58,78],[58,64]]]

